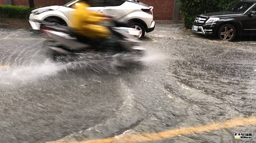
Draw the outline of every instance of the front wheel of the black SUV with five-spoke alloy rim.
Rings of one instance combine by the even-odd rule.
[[[223,41],[233,41],[236,36],[236,28],[231,24],[225,24],[219,28],[218,37]]]

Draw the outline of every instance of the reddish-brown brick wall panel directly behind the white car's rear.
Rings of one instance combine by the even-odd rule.
[[[141,2],[153,6],[155,20],[172,20],[174,0],[140,0]]]

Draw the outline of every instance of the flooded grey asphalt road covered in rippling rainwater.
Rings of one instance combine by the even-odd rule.
[[[142,43],[142,58],[92,53],[54,61],[40,35],[5,26],[0,43],[1,143],[87,141],[256,116],[253,42],[211,40],[159,23]],[[123,62],[134,58],[142,64]],[[240,142],[235,133],[256,141],[252,125],[154,142]]]

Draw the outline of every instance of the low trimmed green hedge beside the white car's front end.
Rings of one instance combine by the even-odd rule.
[[[27,6],[0,5],[0,17],[28,19],[30,11],[33,9]]]

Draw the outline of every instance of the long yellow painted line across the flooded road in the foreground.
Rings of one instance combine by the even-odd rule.
[[[171,137],[176,137],[178,135],[190,135],[190,134],[199,134],[202,132],[211,132],[214,130],[219,130],[222,128],[234,128],[238,126],[252,126],[256,125],[256,117],[242,118],[242,119],[233,119],[228,120],[222,123],[213,123],[204,126],[195,126],[195,127],[183,127],[175,130],[168,130],[165,132],[159,133],[146,133],[141,135],[130,134],[120,135],[118,137],[112,137],[107,139],[95,139],[89,141],[77,141],[77,142],[68,142],[68,141],[50,141],[47,143],[136,143],[142,141],[157,141],[161,139],[168,139]]]

